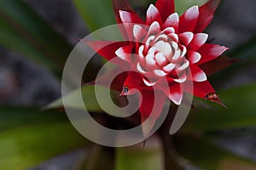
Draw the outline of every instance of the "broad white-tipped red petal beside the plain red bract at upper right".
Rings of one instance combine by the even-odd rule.
[[[178,32],[193,32],[198,20],[199,10],[197,6],[189,8],[179,19]]]

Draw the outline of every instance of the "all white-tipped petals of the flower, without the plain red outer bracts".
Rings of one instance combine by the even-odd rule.
[[[199,8],[194,6],[181,18],[194,22],[199,12]],[[162,20],[159,8],[152,4],[147,10],[146,26],[134,24],[137,16],[130,12],[119,11],[119,16],[123,23],[131,24],[125,26],[125,31],[129,34],[128,37],[134,38],[134,42],[125,40],[129,43],[123,47],[118,46],[115,54],[118,59],[128,61],[125,64],[141,74],[143,81],[141,77],[138,77],[140,78],[138,81],[142,81],[144,86],[156,86],[176,105],[180,105],[183,99],[182,83],[188,80],[193,82],[207,80],[206,73],[200,66],[195,65],[198,62],[200,64],[203,57],[199,49],[207,42],[207,34],[183,31],[181,27],[183,24],[179,23],[180,17],[177,13]],[[137,53],[138,56],[131,53]],[[163,86],[165,81],[168,81],[169,88]]]

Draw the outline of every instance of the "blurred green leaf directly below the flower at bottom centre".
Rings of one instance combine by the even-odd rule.
[[[117,148],[116,151],[116,170],[162,170],[164,169],[163,163],[163,150],[157,139],[148,139],[144,148],[143,144],[138,144]]]

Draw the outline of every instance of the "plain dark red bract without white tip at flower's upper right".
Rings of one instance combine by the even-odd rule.
[[[199,17],[195,26],[195,33],[204,31],[211,23],[215,10],[218,8],[220,0],[209,0],[199,8]]]

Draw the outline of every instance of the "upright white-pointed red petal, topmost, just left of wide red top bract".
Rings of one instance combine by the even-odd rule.
[[[162,24],[158,9],[155,8],[153,4],[150,4],[147,10],[146,24],[150,26],[154,21],[157,21],[160,25]]]

